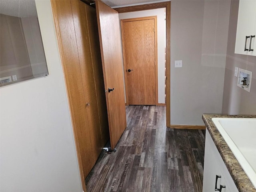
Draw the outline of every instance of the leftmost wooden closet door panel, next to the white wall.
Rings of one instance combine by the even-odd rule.
[[[79,164],[82,164],[80,164],[82,185],[85,188],[84,177],[90,172],[94,162],[88,155],[92,154],[92,148],[90,134],[86,131],[88,128],[86,101],[78,60],[72,8],[70,1],[51,0],[51,3],[76,138],[78,160]]]

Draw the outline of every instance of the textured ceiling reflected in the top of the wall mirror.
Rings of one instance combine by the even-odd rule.
[[[15,17],[37,16],[34,0],[0,0],[0,13]]]

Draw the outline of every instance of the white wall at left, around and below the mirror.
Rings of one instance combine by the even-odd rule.
[[[0,88],[0,191],[82,192],[50,0],[36,6],[50,75]]]

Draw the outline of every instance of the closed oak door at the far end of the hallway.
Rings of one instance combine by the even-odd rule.
[[[156,16],[121,20],[127,100],[130,105],[156,105]]]

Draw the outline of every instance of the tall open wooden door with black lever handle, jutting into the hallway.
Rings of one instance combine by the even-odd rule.
[[[118,12],[96,1],[100,51],[106,92],[111,148],[114,149],[126,128],[124,74]]]

